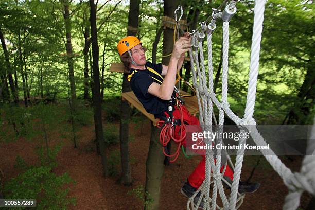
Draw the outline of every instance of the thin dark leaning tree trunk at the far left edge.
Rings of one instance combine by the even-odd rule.
[[[3,36],[1,28],[0,28],[0,41],[2,44],[4,56],[5,56],[6,68],[7,68],[8,78],[9,78],[10,89],[11,89],[12,96],[13,96],[13,101],[15,104],[17,104],[19,102],[19,98],[18,98],[19,96],[17,95],[17,92],[15,91],[13,77],[11,74],[12,69],[11,69],[11,64],[10,64],[10,60],[9,60],[9,53],[8,53],[7,45],[6,45],[6,42],[4,40],[4,36]]]

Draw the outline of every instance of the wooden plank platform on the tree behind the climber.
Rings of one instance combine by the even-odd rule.
[[[181,91],[181,93],[187,94],[184,91]],[[121,97],[122,97],[122,100],[127,100],[131,107],[135,107],[137,110],[143,113],[146,117],[148,117],[153,122],[154,126],[156,125],[156,122],[158,122],[158,120],[154,119],[153,114],[147,113],[145,108],[142,106],[141,102],[137,99],[137,97],[134,95],[132,91],[122,93]],[[199,112],[197,97],[182,98],[182,99],[185,101],[185,106],[190,112],[190,114],[195,115],[196,113]]]

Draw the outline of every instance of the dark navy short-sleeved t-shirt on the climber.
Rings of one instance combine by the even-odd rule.
[[[150,93],[147,92],[149,86],[153,82],[160,84],[152,77],[161,81],[161,77],[150,72],[148,70],[148,67],[154,69],[160,75],[162,74],[163,67],[161,63],[153,64],[147,62],[145,70],[130,69],[132,74],[130,85],[132,91],[134,92],[138,100],[142,103],[145,110],[148,113],[154,114],[155,118],[157,118],[159,115],[161,115],[162,113],[164,113],[164,111],[167,110],[168,100],[162,100],[161,98],[151,95]]]

